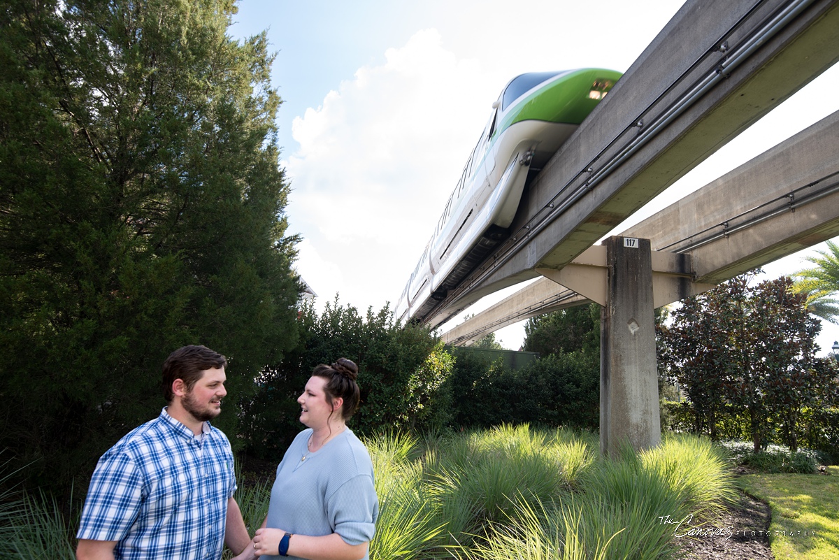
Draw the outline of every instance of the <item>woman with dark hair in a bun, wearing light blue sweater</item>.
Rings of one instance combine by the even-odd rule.
[[[268,517],[237,558],[360,560],[378,517],[373,464],[347,428],[359,401],[358,367],[341,358],[315,367],[297,399],[303,430],[277,467]],[[274,556],[278,555],[279,556]]]

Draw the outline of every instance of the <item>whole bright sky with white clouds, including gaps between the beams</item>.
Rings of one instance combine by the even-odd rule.
[[[229,33],[241,39],[265,31],[276,54],[272,83],[284,100],[279,145],[292,189],[288,232],[302,237],[296,267],[317,305],[337,297],[362,312],[387,302],[393,309],[508,80],[582,67],[625,71],[681,4],[646,0],[642,10],[625,0],[240,0]],[[839,110],[836,91],[839,65],[614,233]],[[826,246],[764,267],[766,277],[810,267],[804,259],[818,250]],[[524,323],[496,336],[517,350]],[[839,326],[823,323],[820,355],[837,339]]]

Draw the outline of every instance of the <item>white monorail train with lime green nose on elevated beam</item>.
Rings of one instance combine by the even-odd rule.
[[[508,236],[524,185],[612,89],[619,72],[586,68],[519,75],[492,116],[394,309],[422,321]]]

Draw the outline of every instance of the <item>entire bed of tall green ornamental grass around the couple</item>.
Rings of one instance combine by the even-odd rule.
[[[712,526],[732,497],[722,452],[701,438],[665,438],[612,459],[598,458],[590,433],[528,426],[423,439],[383,433],[366,444],[379,500],[372,560],[668,557],[675,523]],[[252,533],[273,482],[241,480],[237,500]],[[61,516],[40,496],[0,498],[0,557],[74,557],[78,511]]]

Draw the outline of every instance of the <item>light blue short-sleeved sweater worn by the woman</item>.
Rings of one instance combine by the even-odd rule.
[[[315,453],[307,453],[311,433],[311,428],[298,433],[277,467],[268,527],[310,537],[335,532],[351,545],[370,542],[378,498],[367,448],[347,428]],[[368,557],[369,548],[364,559]]]

